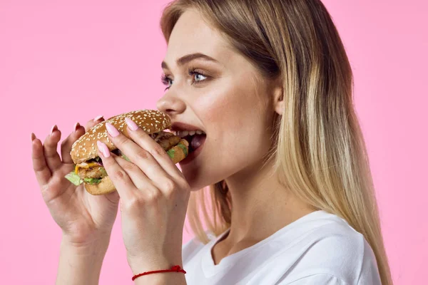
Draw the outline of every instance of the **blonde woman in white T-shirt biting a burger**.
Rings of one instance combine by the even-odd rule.
[[[44,145],[33,135],[34,170],[63,230],[58,282],[98,282],[120,197],[133,274],[186,271],[136,284],[392,284],[352,71],[325,6],[178,0],[161,28],[167,87],[158,109],[206,140],[181,173],[132,122],[134,142],[110,127],[135,165],[99,144],[118,192],[95,197],[63,179],[83,128],[62,143],[62,160],[56,127]],[[181,248],[186,210],[197,237]]]

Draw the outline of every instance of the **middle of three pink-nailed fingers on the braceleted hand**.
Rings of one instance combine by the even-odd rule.
[[[110,123],[106,123],[106,129],[111,142],[113,142],[113,145],[118,147],[118,149],[121,150],[121,152],[123,152],[123,154],[126,155],[126,157],[128,157],[131,162],[137,165],[144,172],[144,174],[153,181],[153,184],[156,185],[156,187],[161,187],[162,185],[160,185],[160,181],[163,180],[163,177],[169,177],[169,175],[165,172],[165,170],[163,170],[161,165],[158,164],[151,153],[137,145],[136,142],[126,138],[125,135],[120,133]],[[161,146],[159,145],[159,147]],[[165,150],[162,148],[161,150],[165,152]]]

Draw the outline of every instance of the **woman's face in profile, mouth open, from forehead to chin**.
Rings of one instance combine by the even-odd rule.
[[[206,133],[198,156],[180,163],[191,189],[253,175],[270,147],[274,108],[270,87],[250,61],[189,10],[171,33],[163,72],[169,88],[158,109],[173,124]]]

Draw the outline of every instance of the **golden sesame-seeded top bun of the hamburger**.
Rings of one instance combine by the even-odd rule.
[[[162,130],[165,130],[165,128],[168,128],[171,123],[168,115],[157,110],[136,110],[116,115],[94,125],[93,128],[88,130],[73,143],[70,152],[73,162],[78,164],[98,157],[98,146],[96,145],[97,140],[104,142],[109,150],[116,150],[117,147],[113,145],[113,142],[111,142],[107,136],[106,122],[111,123],[111,125],[114,125],[116,129],[123,133],[123,135],[130,138],[126,128],[125,118],[133,120],[138,127],[148,134],[161,132]]]

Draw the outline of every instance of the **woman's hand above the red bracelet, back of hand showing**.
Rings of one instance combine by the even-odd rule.
[[[109,138],[131,162],[98,142],[103,160],[121,197],[123,242],[134,274],[182,266],[181,249],[190,187],[168,154],[126,118],[126,138],[106,123]]]

